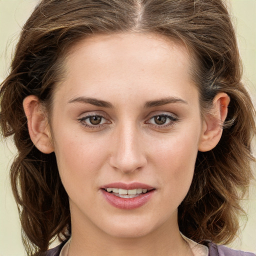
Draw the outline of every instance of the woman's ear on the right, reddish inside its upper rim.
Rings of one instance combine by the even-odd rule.
[[[229,102],[230,98],[224,92],[220,92],[214,97],[211,112],[204,116],[198,144],[199,151],[209,151],[217,145],[222,135],[222,124],[227,115]]]

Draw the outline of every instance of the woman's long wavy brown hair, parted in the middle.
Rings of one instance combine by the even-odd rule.
[[[180,231],[201,241],[231,241],[239,205],[252,178],[254,108],[241,83],[235,32],[221,0],[41,0],[22,28],[11,70],[0,89],[0,125],[13,135],[18,154],[10,168],[23,242],[28,254],[47,250],[51,239],[71,234],[68,196],[54,152],[30,140],[22,108],[33,94],[50,111],[61,63],[75,42],[94,33],[154,32],[185,44],[194,57],[193,79],[201,109],[218,92],[230,96],[218,145],[198,152],[191,187],[178,207]]]

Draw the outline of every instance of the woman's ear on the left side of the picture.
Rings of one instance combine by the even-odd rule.
[[[51,153],[52,145],[48,118],[42,111],[38,97],[29,95],[23,100],[23,108],[27,118],[30,138],[34,145],[43,153]]]

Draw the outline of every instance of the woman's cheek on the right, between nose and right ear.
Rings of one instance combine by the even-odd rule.
[[[164,182],[162,187],[166,188],[166,194],[175,194],[178,201],[184,198],[190,187],[198,151],[198,129],[190,131],[173,133],[158,143],[153,151],[155,168],[157,166]]]

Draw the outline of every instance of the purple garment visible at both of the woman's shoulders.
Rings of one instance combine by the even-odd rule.
[[[59,256],[60,250],[64,244],[65,242],[62,242],[58,246],[47,250],[44,256]],[[208,256],[255,256],[252,252],[234,250],[224,245],[217,245],[209,240],[205,240],[203,244],[209,248]]]

